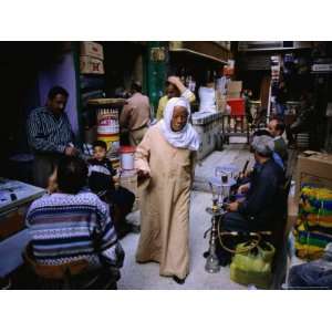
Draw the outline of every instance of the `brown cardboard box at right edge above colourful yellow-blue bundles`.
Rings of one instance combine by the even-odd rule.
[[[302,184],[314,184],[332,189],[332,154],[307,151],[298,157],[295,201]]]

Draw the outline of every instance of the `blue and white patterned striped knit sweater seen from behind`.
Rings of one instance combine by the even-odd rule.
[[[45,195],[33,201],[25,221],[34,257],[41,263],[80,259],[94,267],[100,267],[101,260],[116,267],[123,263],[124,252],[108,207],[92,193]]]

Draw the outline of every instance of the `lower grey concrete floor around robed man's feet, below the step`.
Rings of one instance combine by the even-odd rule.
[[[126,252],[122,278],[118,289],[127,290],[167,290],[167,289],[246,289],[229,279],[229,267],[221,268],[218,273],[205,271],[205,258],[203,252],[208,248],[208,239],[203,235],[210,227],[210,217],[205,211],[210,206],[211,195],[207,193],[193,191],[190,205],[190,273],[184,284],[177,284],[172,278],[159,276],[157,263],[138,264],[135,262],[135,252],[139,235],[128,235],[121,242]],[[128,221],[139,222],[139,211],[131,214]]]

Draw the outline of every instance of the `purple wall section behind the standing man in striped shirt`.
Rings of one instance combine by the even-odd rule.
[[[59,63],[40,72],[39,92],[41,105],[45,104],[49,90],[54,85],[63,86],[70,94],[65,112],[73,127],[73,132],[75,135],[79,135],[76,76],[72,52],[63,54]]]

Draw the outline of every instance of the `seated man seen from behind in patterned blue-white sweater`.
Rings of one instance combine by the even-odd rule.
[[[27,215],[33,259],[43,266],[84,260],[89,271],[110,272],[110,278],[115,271],[118,279],[124,251],[117,241],[107,205],[95,194],[82,190],[86,180],[84,160],[74,156],[59,160],[58,191],[33,201]]]

